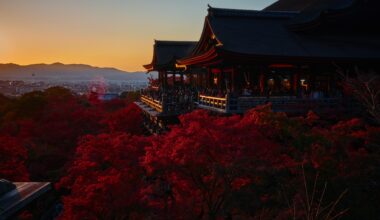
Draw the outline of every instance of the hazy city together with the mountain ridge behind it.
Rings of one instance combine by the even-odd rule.
[[[148,77],[156,73],[126,72],[86,64],[0,64],[0,93],[17,97],[22,94],[62,86],[79,95],[89,92],[120,95],[145,88]]]

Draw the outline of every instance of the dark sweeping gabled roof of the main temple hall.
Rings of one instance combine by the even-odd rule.
[[[221,54],[245,57],[380,59],[379,35],[302,34],[289,28],[300,12],[209,8],[201,39],[180,64],[215,60]],[[213,47],[205,46],[215,39]],[[241,58],[241,56],[240,56]]]

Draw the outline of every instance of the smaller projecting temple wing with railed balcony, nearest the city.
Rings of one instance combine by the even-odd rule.
[[[167,125],[178,121],[178,115],[193,109],[197,94],[191,87],[192,75],[178,67],[176,60],[189,56],[195,45],[189,41],[155,41],[152,62],[144,68],[158,72],[158,79],[151,80],[136,102],[150,132],[166,130]]]

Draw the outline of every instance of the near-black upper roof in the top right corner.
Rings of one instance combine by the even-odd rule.
[[[292,19],[294,31],[315,33],[340,32],[379,34],[380,1],[378,0],[319,0]]]

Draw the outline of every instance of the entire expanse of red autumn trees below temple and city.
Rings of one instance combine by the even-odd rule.
[[[360,118],[196,110],[143,136],[129,100],[0,101],[0,175],[53,181],[61,219],[378,218],[380,129]]]

